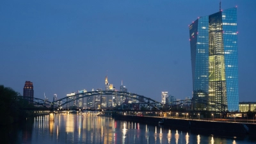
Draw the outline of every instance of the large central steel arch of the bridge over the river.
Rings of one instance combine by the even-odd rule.
[[[83,99],[85,97],[92,97],[92,96],[106,96],[106,95],[114,95],[114,96],[122,96],[131,98],[134,100],[138,100],[138,102],[148,104],[148,106],[151,106],[153,108],[158,109],[156,104],[159,104],[160,106],[163,106],[161,102],[157,102],[156,100],[153,100],[151,98],[145,97],[143,95],[138,95],[136,93],[129,93],[129,92],[116,92],[116,91],[94,91],[94,92],[85,92],[85,93],[77,93],[76,95],[72,95],[69,97],[63,97],[62,99],[58,99],[52,102],[52,106],[54,109],[61,108],[61,106],[65,106],[65,104],[68,104],[69,102],[74,102],[78,99]]]

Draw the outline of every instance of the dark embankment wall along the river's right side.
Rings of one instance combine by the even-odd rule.
[[[221,122],[211,120],[192,120],[180,118],[161,118],[158,116],[136,116],[136,115],[112,115],[115,120],[129,120],[132,122],[142,122],[146,124],[158,124],[160,120],[164,125],[185,130],[214,131],[214,132],[233,132],[240,134],[256,134],[256,124],[242,122]]]

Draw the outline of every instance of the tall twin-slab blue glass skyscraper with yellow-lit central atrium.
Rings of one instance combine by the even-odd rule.
[[[238,111],[237,8],[199,17],[189,38],[193,108]]]

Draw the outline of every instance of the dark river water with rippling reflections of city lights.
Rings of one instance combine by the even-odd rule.
[[[180,131],[99,117],[95,113],[58,114],[54,122],[49,122],[48,115],[36,116],[22,125],[6,128],[10,131],[0,128],[4,143],[256,143],[255,136]]]

